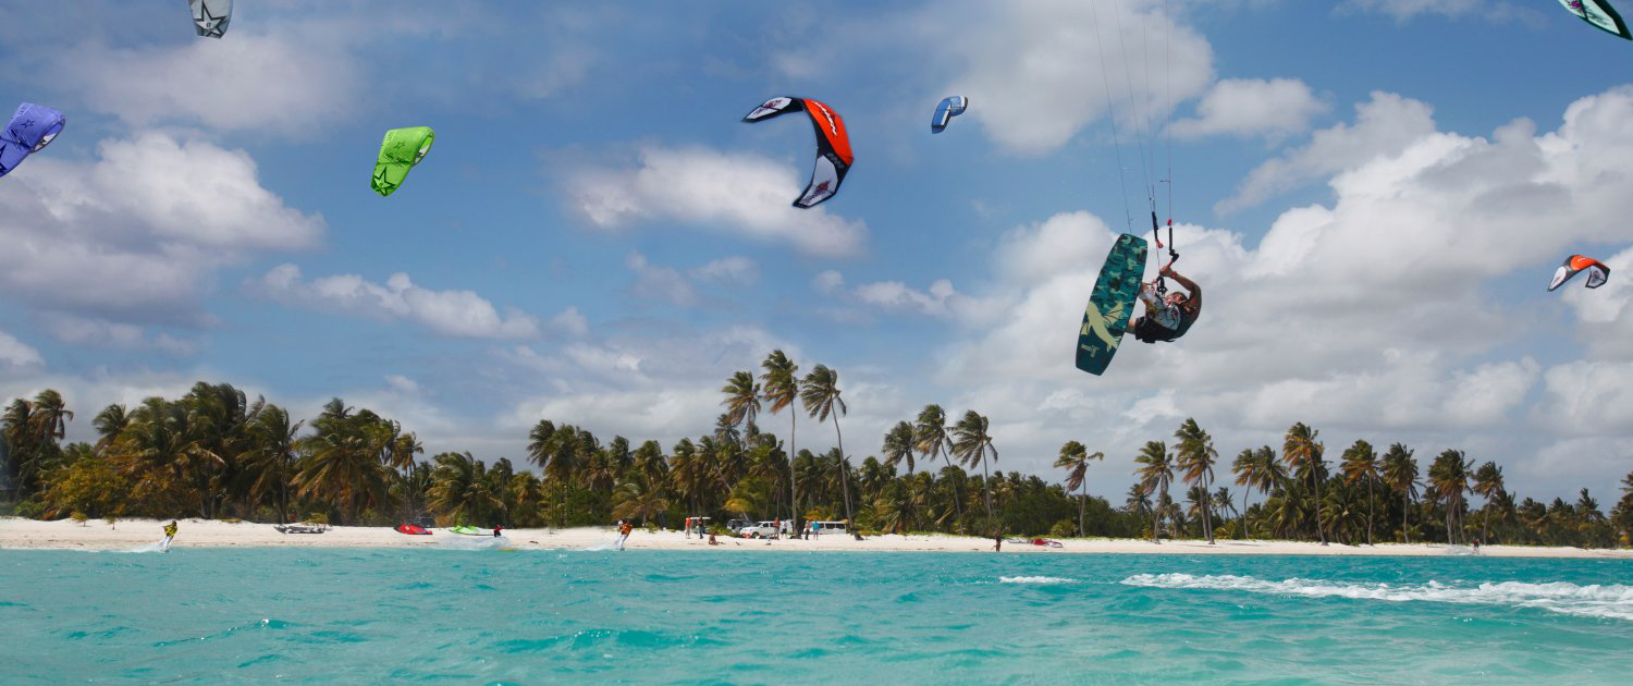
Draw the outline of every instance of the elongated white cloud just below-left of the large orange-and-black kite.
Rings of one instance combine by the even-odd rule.
[[[594,227],[678,220],[756,240],[785,242],[825,256],[856,255],[867,227],[828,214],[830,204],[799,209],[805,176],[754,154],[704,147],[645,147],[635,168],[586,170],[568,183],[568,196]]]

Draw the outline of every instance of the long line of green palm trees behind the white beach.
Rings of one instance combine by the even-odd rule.
[[[720,392],[723,412],[714,430],[668,449],[624,436],[603,443],[581,426],[541,420],[518,467],[508,457],[488,464],[470,452],[421,459],[425,448],[412,431],[340,399],[315,418],[294,420],[265,399],[251,402],[230,384],[207,382],[175,400],[108,405],[91,420],[95,443],[62,444],[75,415],[47,389],[5,407],[0,462],[11,511],[34,518],[389,526],[431,516],[438,524],[565,528],[634,519],[674,528],[687,516],[710,516],[795,526],[848,519],[862,532],[885,534],[1582,547],[1633,541],[1633,474],[1607,516],[1587,488],[1576,501],[1519,498],[1501,466],[1476,466],[1458,449],[1426,459],[1422,469],[1404,444],[1378,454],[1357,439],[1329,461],[1319,431],[1305,423],[1287,430],[1280,451],[1243,449],[1225,474],[1212,436],[1186,420],[1171,441],[1148,441],[1133,456],[1135,483],[1112,505],[1088,493],[1102,452],[1066,441],[1053,462],[1060,483],[1001,472],[988,418],[975,410],[950,415],[934,403],[898,421],[877,454],[852,464],[838,371],[816,364],[802,376],[781,350],[758,374],[733,372]],[[787,416],[785,439],[761,425],[781,421],[777,415]],[[795,441],[802,416],[815,423],[805,441],[816,451]],[[1253,495],[1259,501],[1249,505]]]

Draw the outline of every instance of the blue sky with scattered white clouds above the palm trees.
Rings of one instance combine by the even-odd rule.
[[[0,395],[62,390],[70,438],[225,381],[429,452],[519,459],[539,418],[670,444],[782,348],[839,371],[854,459],[936,402],[1003,469],[1106,451],[1114,498],[1186,416],[1226,462],[1308,421],[1522,495],[1633,469],[1633,44],[1548,0],[238,5],[220,41],[0,7],[31,28],[0,93],[69,118],[0,180]],[[808,126],[740,122],[776,95],[849,126],[816,209]],[[436,147],[382,199],[402,126]],[[1169,158],[1202,320],[1084,376],[1088,289]],[[1543,292],[1573,252],[1610,284]]]

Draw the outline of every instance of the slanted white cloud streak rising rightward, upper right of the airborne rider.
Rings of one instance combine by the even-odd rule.
[[[1318,131],[1310,144],[1267,160],[1236,189],[1236,194],[1213,206],[1217,212],[1233,212],[1262,203],[1316,178],[1359,167],[1380,155],[1399,154],[1408,144],[1434,131],[1427,105],[1393,93],[1375,91],[1372,100],[1355,106],[1355,124],[1334,124]]]

